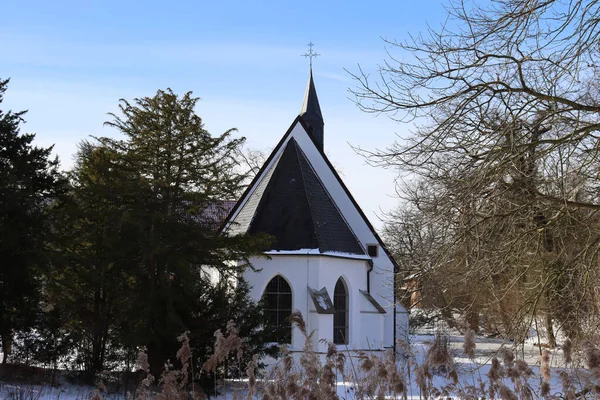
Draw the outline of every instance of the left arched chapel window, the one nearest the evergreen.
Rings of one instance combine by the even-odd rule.
[[[263,299],[267,318],[277,331],[269,339],[277,343],[292,342],[292,288],[282,276],[277,275],[267,284]]]

